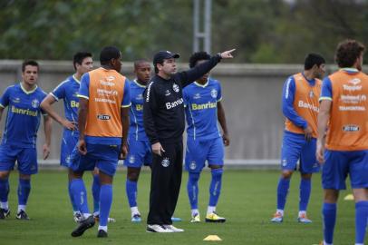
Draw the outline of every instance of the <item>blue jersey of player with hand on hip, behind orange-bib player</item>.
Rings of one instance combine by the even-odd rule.
[[[78,122],[79,98],[77,94],[80,85],[81,82],[72,75],[50,93],[56,101],[63,100],[65,118],[70,122]]]

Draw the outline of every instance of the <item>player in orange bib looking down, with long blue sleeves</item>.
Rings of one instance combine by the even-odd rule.
[[[290,76],[283,88],[283,113],[286,127],[281,147],[281,176],[277,185],[277,209],[271,222],[284,220],[286,196],[289,191],[290,178],[299,161],[300,199],[298,222],[311,223],[306,210],[311,194],[311,179],[319,171],[315,159],[315,142],[317,137],[318,98],[324,76],[324,57],[320,54],[307,54],[305,70]]]

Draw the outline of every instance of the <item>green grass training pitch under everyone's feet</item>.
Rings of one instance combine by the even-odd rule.
[[[17,173],[11,175],[9,195],[12,215],[0,220],[0,244],[317,244],[322,240],[322,190],[320,174],[314,176],[312,197],[309,205],[309,218],[312,224],[296,222],[299,176],[295,174],[291,181],[286,217],[284,223],[273,224],[269,220],[275,211],[276,183],[278,171],[226,171],[223,189],[218,203],[218,212],[228,220],[223,224],[189,223],[189,201],[184,172],[179,204],[175,216],[182,218],[176,223],[185,229],[182,233],[147,233],[145,220],[148,211],[150,172],[143,171],[139,182],[139,207],[144,218],[140,224],[131,223],[131,213],[125,196],[125,171],[119,171],[114,182],[114,199],[111,217],[116,223],[109,225],[109,238],[97,239],[96,226],[87,230],[81,238],[72,238],[70,233],[75,227],[71,204],[66,192],[66,172],[41,171],[34,176],[32,192],[28,201],[27,213],[32,220],[15,220],[17,207]],[[91,200],[91,175],[84,176]],[[201,218],[208,203],[208,181],[210,173],[202,173],[199,181],[199,210]],[[343,191],[338,203],[337,223],[334,244],[353,244],[354,240],[354,204],[344,201]],[[216,234],[222,241],[203,241],[208,235]]]

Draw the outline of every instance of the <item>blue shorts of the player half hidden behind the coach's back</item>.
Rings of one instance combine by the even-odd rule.
[[[152,149],[149,141],[136,141],[133,137],[128,139],[128,155],[124,165],[130,168],[141,168],[152,164]]]

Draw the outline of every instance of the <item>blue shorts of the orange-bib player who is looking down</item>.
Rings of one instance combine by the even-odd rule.
[[[316,139],[305,141],[305,135],[284,132],[283,145],[281,147],[282,170],[295,171],[299,161],[299,171],[302,173],[318,172],[320,165],[315,158]]]

